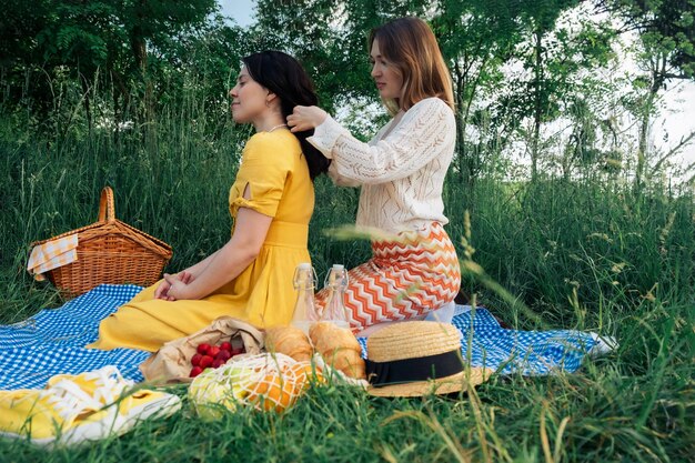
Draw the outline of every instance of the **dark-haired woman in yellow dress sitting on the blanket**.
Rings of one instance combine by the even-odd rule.
[[[244,58],[230,97],[234,121],[253,123],[256,131],[230,191],[231,240],[120,306],[101,322],[89,348],[155,351],[222,315],[260,328],[290,323],[292,275],[299,263],[310,262],[313,179],[329,161],[306,142],[313,130],[292,133],[286,117],[318,98],[299,62],[278,51]]]

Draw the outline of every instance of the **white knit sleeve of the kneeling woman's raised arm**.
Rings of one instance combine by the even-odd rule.
[[[355,139],[330,117],[309,141],[333,159],[336,177],[377,184],[413,174],[455,137],[452,110],[439,98],[429,98],[406,111],[397,127],[375,144]]]

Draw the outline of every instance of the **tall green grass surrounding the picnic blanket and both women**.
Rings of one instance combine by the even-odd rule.
[[[21,114],[0,119],[0,322],[62,304],[24,271],[30,243],[93,222],[104,184],[119,219],[173,245],[169,270],[229,239],[226,195],[248,132],[204,114],[194,105],[164,111],[147,144],[129,131],[51,139]],[[692,461],[695,207],[692,193],[651,187],[634,197],[620,179],[590,177],[467,187],[452,175],[446,184],[449,232],[464,259],[470,211],[471,258],[484,269],[465,274],[469,294],[521,329],[618,339],[616,352],[576,374],[493,376],[474,392],[415,400],[316,387],[283,415],[242,410],[213,423],[184,403],[168,420],[85,449],[46,453],[0,441],[0,460]],[[356,191],[320,179],[316,199],[310,251],[319,274],[364,261],[367,243],[323,233],[353,220]]]

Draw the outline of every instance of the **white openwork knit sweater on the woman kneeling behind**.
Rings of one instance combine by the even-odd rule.
[[[329,174],[335,184],[362,185],[357,225],[399,232],[449,223],[442,187],[456,141],[453,111],[427,98],[393,123],[363,143],[329,115],[309,141],[333,160]]]

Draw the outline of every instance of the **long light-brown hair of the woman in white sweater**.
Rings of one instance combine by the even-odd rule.
[[[432,29],[420,18],[400,18],[372,29],[370,50],[379,41],[382,56],[403,78],[403,95],[384,100],[392,114],[409,110],[425,98],[437,97],[454,109],[454,93],[449,68]]]

